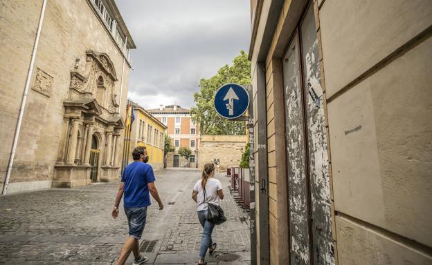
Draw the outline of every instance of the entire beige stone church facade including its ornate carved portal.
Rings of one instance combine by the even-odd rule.
[[[47,0],[41,12],[43,3],[7,0],[0,10],[0,188],[35,57],[8,193],[120,175],[134,41],[114,0]]]

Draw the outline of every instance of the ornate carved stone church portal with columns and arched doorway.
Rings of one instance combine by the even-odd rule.
[[[87,51],[71,70],[69,96],[55,165],[55,187],[118,179],[118,147],[125,127],[118,115],[116,70],[108,55]],[[98,155],[93,150],[98,143]],[[98,159],[98,161],[95,161]],[[95,165],[97,168],[95,168]]]

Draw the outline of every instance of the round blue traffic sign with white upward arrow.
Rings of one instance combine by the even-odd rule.
[[[249,108],[249,93],[239,84],[221,86],[215,95],[215,110],[226,119],[235,119]]]

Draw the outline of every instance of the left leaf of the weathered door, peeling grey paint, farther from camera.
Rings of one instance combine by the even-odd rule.
[[[298,48],[291,43],[284,60],[285,115],[287,117],[287,164],[291,263],[309,264],[307,180],[303,99],[300,88]]]

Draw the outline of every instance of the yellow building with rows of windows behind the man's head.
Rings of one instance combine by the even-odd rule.
[[[153,117],[147,110],[134,103],[135,120],[132,124],[129,162],[136,146],[145,146],[149,155],[148,163],[154,170],[163,168],[163,146],[167,126]]]

